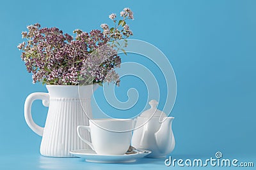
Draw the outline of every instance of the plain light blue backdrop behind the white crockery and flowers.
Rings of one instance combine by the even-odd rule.
[[[0,167],[47,169],[40,161],[46,159],[39,153],[41,137],[24,120],[26,96],[47,92],[45,86],[33,85],[20,59],[17,45],[26,25],[39,22],[42,27],[55,26],[70,34],[77,28],[91,31],[102,23],[110,24],[108,15],[118,14],[124,7],[134,11],[132,38],[156,45],[176,74],[177,100],[171,113],[177,142],[173,157],[213,157],[221,151],[224,156],[243,157],[256,164],[256,1],[10,0],[0,5]],[[143,63],[138,57],[124,60]],[[124,79],[120,88],[134,87],[134,81]],[[97,96],[100,100],[100,90]],[[138,103],[138,107],[140,104],[145,103]],[[36,101],[35,122],[44,125],[46,116],[47,108]],[[14,160],[17,163],[13,164]],[[56,161],[52,163],[56,169],[61,161],[77,169],[130,169],[129,165],[89,164],[79,159],[47,160]],[[164,168],[164,163],[150,160],[131,167]]]

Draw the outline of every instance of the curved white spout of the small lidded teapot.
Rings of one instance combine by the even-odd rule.
[[[174,117],[165,117],[163,118],[163,122],[161,123],[160,129],[155,133],[157,147],[159,151],[164,152],[172,152],[174,146],[174,136],[172,132],[172,121]],[[159,120],[161,121],[161,120]]]

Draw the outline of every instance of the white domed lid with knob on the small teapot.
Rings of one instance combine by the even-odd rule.
[[[158,102],[156,100],[151,100],[149,104],[151,108],[149,110],[143,111],[140,117],[167,117],[163,111],[157,110],[156,107]]]

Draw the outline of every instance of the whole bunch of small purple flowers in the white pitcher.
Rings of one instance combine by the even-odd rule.
[[[118,27],[109,29],[107,24],[101,24],[103,31],[95,29],[88,33],[76,29],[75,38],[63,34],[56,27],[29,25],[28,32],[22,32],[22,38],[27,41],[17,47],[23,50],[21,58],[28,72],[33,74],[33,83],[87,85],[115,81],[119,85],[115,67],[120,66],[121,59],[109,42],[132,35],[125,22],[126,19],[133,19],[132,11],[125,8],[124,12],[123,20],[118,23],[122,26],[120,31]],[[116,22],[115,14],[109,15],[109,18]]]

